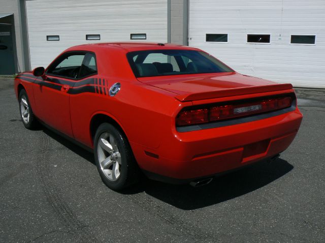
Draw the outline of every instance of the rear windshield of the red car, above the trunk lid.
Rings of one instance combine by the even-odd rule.
[[[233,72],[205,52],[191,50],[149,50],[126,54],[136,77]]]

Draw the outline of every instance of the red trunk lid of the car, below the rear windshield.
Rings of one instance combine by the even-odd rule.
[[[175,98],[181,102],[292,88],[290,84],[277,84],[236,72],[141,77],[138,80],[147,85],[173,92]]]

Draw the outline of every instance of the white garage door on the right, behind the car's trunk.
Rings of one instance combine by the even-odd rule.
[[[325,88],[324,0],[189,3],[190,46],[243,74],[296,87]],[[248,44],[247,34],[257,34],[249,35],[248,41],[258,44]],[[268,35],[270,43],[261,43],[268,42]]]

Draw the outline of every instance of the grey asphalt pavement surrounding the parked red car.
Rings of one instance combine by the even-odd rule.
[[[0,242],[325,242],[325,91],[297,89],[293,144],[193,188],[150,180],[118,193],[93,155],[24,128],[13,79],[0,79]]]

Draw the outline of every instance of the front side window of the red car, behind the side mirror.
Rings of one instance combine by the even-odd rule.
[[[68,78],[78,78],[84,60],[84,53],[63,54],[47,71],[48,74]]]

